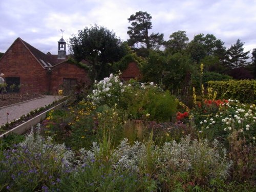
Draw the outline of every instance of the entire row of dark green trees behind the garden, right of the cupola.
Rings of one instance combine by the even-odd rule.
[[[150,33],[151,19],[147,12],[131,15],[129,39],[124,42],[102,26],[86,27],[70,38],[70,53],[77,61],[86,59],[91,63],[94,80],[123,70],[124,63],[134,60],[144,81],[160,83],[181,95],[197,86],[200,63],[204,63],[204,82],[256,78],[256,48],[249,58],[240,39],[227,49],[214,34],[200,33],[189,41],[186,31],[176,31],[165,41],[164,34]]]

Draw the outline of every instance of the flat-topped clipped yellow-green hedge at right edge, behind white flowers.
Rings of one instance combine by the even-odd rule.
[[[217,91],[217,98],[256,102],[256,80],[208,81],[208,87]]]

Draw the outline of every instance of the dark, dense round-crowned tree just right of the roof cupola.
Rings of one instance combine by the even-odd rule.
[[[115,33],[96,24],[73,35],[69,40],[69,50],[76,61],[85,59],[91,63],[92,80],[108,76],[109,63],[120,60],[125,54]]]

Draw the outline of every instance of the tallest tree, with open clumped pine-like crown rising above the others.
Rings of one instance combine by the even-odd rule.
[[[149,30],[152,29],[152,16],[147,12],[136,12],[128,18],[131,27],[128,27],[127,34],[130,39],[127,40],[128,45],[142,47],[146,49],[158,49],[163,44],[163,34],[152,33],[149,35]]]

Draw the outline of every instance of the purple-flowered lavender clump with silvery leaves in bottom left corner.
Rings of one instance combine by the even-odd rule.
[[[0,161],[0,188],[12,191],[57,190],[62,177],[71,170],[74,153],[51,138],[31,134],[24,142],[4,152]]]

